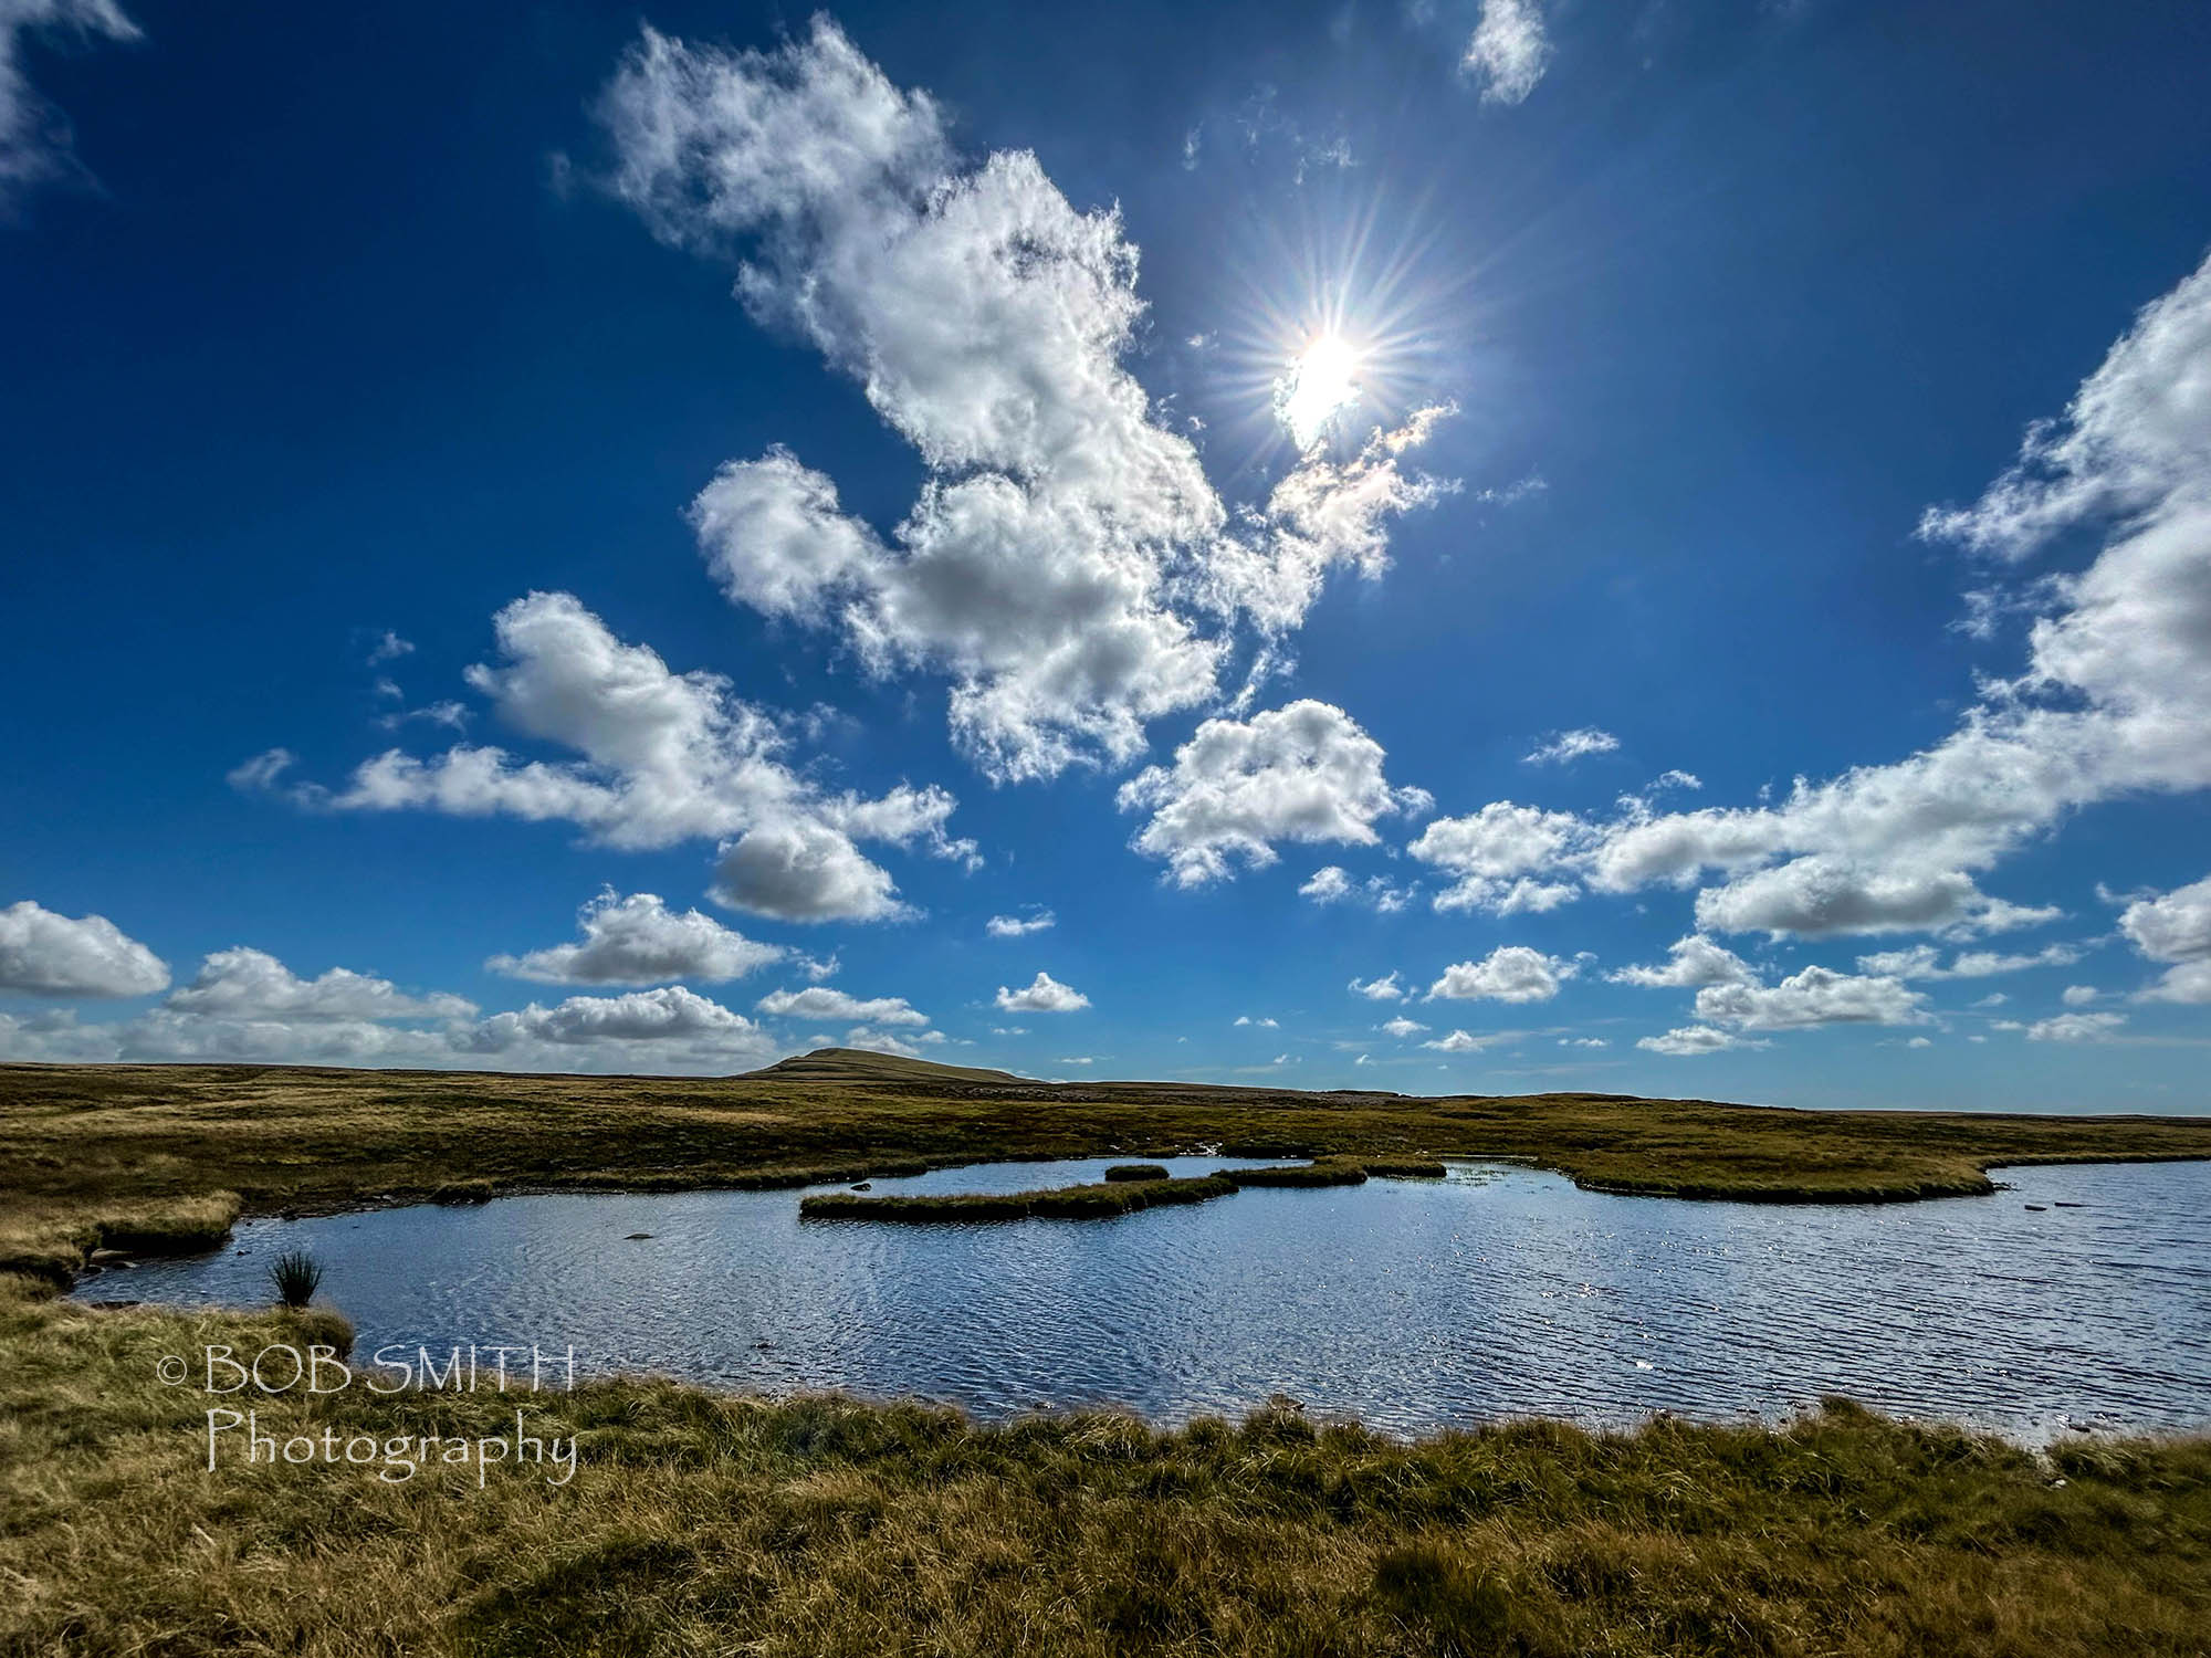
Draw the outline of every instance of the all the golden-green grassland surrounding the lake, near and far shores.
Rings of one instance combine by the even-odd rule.
[[[1835,1402],[1784,1430],[977,1426],[915,1404],[604,1382],[526,1404],[581,1472],[206,1468],[155,1366],[336,1340],[327,1311],[99,1311],[95,1249],[241,1209],[860,1180],[1207,1150],[1278,1178],[1519,1156],[1665,1196],[1901,1200],[1994,1163],[2211,1154],[2204,1119],[1773,1112],[1599,1094],[1068,1085],[811,1057],[723,1081],[0,1068],[0,1654],[2065,1658],[2196,1654],[2211,1444],[2034,1455]],[[1066,1203],[1159,1187],[1112,1180]],[[878,1203],[858,1194],[838,1200]],[[1033,1209],[1030,1209],[1033,1211]],[[13,1269],[13,1271],[7,1271]],[[500,1435],[513,1395],[256,1397],[268,1435]]]

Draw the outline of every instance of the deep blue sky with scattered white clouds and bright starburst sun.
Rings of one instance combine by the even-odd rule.
[[[0,1059],[2202,1112],[2204,62],[0,0]]]

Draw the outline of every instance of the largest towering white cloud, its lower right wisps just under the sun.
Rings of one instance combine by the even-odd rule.
[[[657,237],[738,261],[738,296],[865,389],[929,469],[884,537],[787,449],[692,504],[723,592],[836,628],[871,672],[951,679],[993,778],[1125,763],[1148,721],[1214,699],[1229,641],[1280,630],[1318,575],[1384,564],[1380,524],[1442,489],[1402,469],[1439,411],[1349,462],[1307,455],[1229,515],[1125,367],[1143,303],[1112,210],[1035,155],[979,166],[940,106],[818,18],[778,51],[643,33],[601,99],[615,192]]]

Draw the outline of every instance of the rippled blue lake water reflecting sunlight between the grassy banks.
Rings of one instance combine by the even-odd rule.
[[[876,1192],[1017,1192],[1103,1167],[997,1163]],[[2211,1426],[2211,1165],[1999,1178],[2016,1189],[1771,1207],[1459,1165],[964,1227],[800,1222],[798,1192],[539,1196],[250,1220],[221,1253],[102,1273],[77,1295],[256,1302],[268,1262],[310,1249],[360,1353],[573,1346],[586,1373],[913,1393],[986,1417],[1121,1404],[1181,1421],[1280,1391],[1424,1433],[1778,1415],[1848,1393],[2023,1437],[2067,1417]]]

